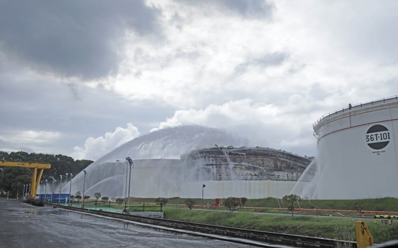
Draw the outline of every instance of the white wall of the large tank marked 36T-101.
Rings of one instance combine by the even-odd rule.
[[[397,197],[397,104],[345,113],[316,126],[319,166],[313,198]]]

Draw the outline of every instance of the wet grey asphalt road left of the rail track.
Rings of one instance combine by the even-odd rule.
[[[0,199],[1,248],[250,247],[90,214]]]

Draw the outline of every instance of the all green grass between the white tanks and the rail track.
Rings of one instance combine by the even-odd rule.
[[[206,206],[207,203],[214,203],[213,199],[195,199],[198,205]],[[154,199],[132,199],[134,205],[137,202],[154,202]],[[279,201],[279,203],[278,203]],[[233,213],[229,213],[225,207],[200,208],[189,210],[184,207],[185,199],[170,198],[168,199],[167,207],[164,208],[165,218],[181,221],[190,221],[196,223],[204,223],[219,226],[228,226],[244,229],[252,229],[267,232],[277,232],[285,234],[304,235],[310,237],[320,237],[327,239],[338,239],[346,241],[355,241],[355,221],[356,218],[330,218],[330,217],[316,217],[309,214],[318,215],[335,215],[341,216],[336,212],[302,212],[304,215],[295,215],[292,217],[286,210],[274,209],[249,209],[237,208]],[[299,202],[301,208],[315,208],[319,209],[344,209],[357,210],[358,204],[362,210],[369,211],[397,211],[397,198],[378,198],[378,199],[358,199],[358,200],[302,200]],[[276,198],[266,199],[249,199],[245,203],[245,207],[267,207],[279,208],[281,200]],[[283,206],[283,205],[282,205]],[[296,204],[296,207],[297,204]],[[270,215],[260,214],[255,212],[271,212],[271,213],[286,213],[286,215]],[[342,213],[347,215],[347,213]],[[354,216],[363,216],[361,213],[353,213]],[[374,216],[374,214],[368,214]],[[376,225],[374,219],[362,218],[368,226],[375,244],[398,239],[398,223],[394,220],[392,225],[382,225],[381,220]]]

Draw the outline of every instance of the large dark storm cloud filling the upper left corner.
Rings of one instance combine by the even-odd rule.
[[[159,10],[143,0],[0,2],[0,52],[36,70],[99,78],[117,70],[125,31],[158,31]]]

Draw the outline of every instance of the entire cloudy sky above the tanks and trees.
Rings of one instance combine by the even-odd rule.
[[[398,94],[397,9],[0,0],[0,151],[96,160],[150,131],[199,124],[315,156],[323,114]]]

